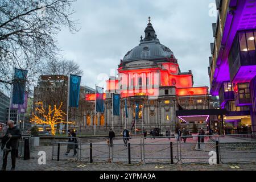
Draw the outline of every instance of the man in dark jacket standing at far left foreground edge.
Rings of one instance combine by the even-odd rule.
[[[9,128],[6,131],[5,138],[6,140],[2,142],[2,145],[5,146],[5,150],[3,151],[3,166],[2,171],[6,170],[7,166],[7,157],[9,152],[11,151],[11,170],[15,170],[16,164],[16,155],[15,151],[17,148],[18,140],[22,136],[18,127],[14,126],[14,121],[7,122]],[[2,148],[2,147],[1,147]],[[3,148],[2,148],[3,149]]]

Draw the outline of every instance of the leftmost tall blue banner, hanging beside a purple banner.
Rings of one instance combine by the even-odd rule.
[[[24,104],[27,70],[16,69],[13,82],[13,104]]]

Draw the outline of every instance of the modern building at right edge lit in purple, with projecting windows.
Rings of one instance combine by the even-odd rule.
[[[210,94],[218,96],[225,133],[256,133],[256,2],[216,0],[210,43]]]

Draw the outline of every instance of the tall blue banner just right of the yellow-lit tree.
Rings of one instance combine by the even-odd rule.
[[[69,107],[79,107],[81,76],[69,77]]]

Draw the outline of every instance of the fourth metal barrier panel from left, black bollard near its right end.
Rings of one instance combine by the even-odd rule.
[[[178,146],[175,137],[143,138],[143,161],[144,163],[178,163]]]

